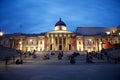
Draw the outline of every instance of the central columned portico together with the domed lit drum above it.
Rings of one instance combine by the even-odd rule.
[[[75,48],[75,33],[68,31],[66,24],[61,19],[55,24],[55,29],[50,32],[46,32],[45,49],[47,51],[68,51]]]

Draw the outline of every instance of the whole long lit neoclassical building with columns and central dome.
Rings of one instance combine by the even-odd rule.
[[[1,45],[22,51],[100,51],[120,43],[119,27],[77,27],[67,30],[61,20],[53,31],[40,34],[4,34]]]

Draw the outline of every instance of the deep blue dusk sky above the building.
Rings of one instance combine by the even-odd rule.
[[[118,26],[120,0],[0,0],[5,33],[51,31],[60,17],[71,31],[78,26]]]

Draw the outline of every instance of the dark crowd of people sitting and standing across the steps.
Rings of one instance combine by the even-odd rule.
[[[37,55],[36,55],[36,51],[26,51],[26,52],[22,52],[22,51],[18,51],[19,53],[19,58],[17,58],[15,60],[15,56],[13,56],[13,62],[15,62],[16,64],[23,64],[23,57],[26,58],[28,56],[32,56],[32,58],[37,58]],[[118,63],[119,62],[119,59],[113,59],[112,56],[110,56],[108,54],[107,51],[105,51],[104,49],[101,50],[101,52],[86,52],[86,63],[95,63],[94,62],[94,59],[93,58],[96,58],[96,59],[101,59],[101,60],[107,60],[107,62],[110,62],[110,60],[114,60],[115,63]],[[64,52],[63,51],[51,51],[50,53],[49,52],[46,52],[46,54],[44,54],[43,56],[43,60],[49,60],[51,56],[54,56],[54,55],[57,55],[57,59],[58,60],[62,60],[63,59],[63,56],[64,56]],[[51,56],[50,56],[51,55]],[[65,55],[66,56],[66,55]],[[76,57],[77,56],[80,56],[80,53],[75,51],[73,52],[72,54],[70,54],[68,57],[69,61],[70,61],[70,64],[75,64],[76,63]],[[5,59],[5,64],[7,65],[8,63],[8,60]]]

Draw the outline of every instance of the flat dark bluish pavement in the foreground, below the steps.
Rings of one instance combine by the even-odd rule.
[[[8,65],[0,80],[120,80],[120,64]]]

